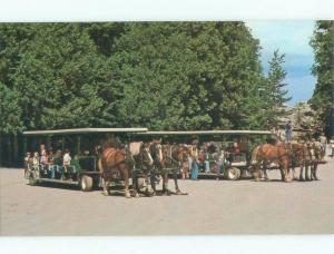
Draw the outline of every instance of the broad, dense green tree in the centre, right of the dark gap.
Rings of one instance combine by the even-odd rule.
[[[261,80],[259,46],[243,22],[130,23],[116,48],[126,125],[259,127],[247,113],[249,87]]]

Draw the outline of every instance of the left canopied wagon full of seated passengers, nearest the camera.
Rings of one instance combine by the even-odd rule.
[[[96,147],[110,137],[130,140],[135,133],[147,128],[76,128],[57,130],[24,131],[24,150],[33,152],[26,158],[26,178],[30,185],[57,183],[79,186],[84,192],[101,186],[101,172],[98,168],[99,154]],[[63,152],[69,153],[68,165]],[[28,153],[27,153],[28,154]],[[31,153],[29,153],[31,154]],[[73,154],[73,156],[71,156]],[[42,156],[48,156],[43,162]],[[114,185],[124,184],[115,177]]]

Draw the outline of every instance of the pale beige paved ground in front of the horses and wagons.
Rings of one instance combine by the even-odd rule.
[[[187,196],[127,199],[69,187],[29,186],[0,169],[1,235],[207,235],[334,233],[334,158],[321,180],[181,180]],[[173,187],[171,183],[170,186]]]

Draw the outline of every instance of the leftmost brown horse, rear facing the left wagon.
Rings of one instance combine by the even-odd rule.
[[[104,184],[104,195],[109,195],[110,183],[115,179],[125,180],[125,196],[131,197],[129,190],[129,177],[131,166],[126,162],[128,152],[125,148],[110,147],[106,143],[101,156],[98,159],[98,168]]]

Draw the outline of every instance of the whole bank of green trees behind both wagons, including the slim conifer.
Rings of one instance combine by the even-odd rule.
[[[4,23],[0,56],[7,133],[259,129],[286,99],[284,56],[266,79],[244,22]]]

